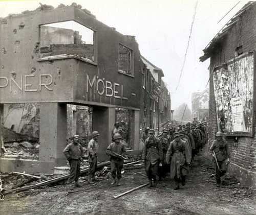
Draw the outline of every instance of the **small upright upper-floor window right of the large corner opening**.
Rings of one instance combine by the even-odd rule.
[[[119,44],[118,46],[118,71],[124,74],[133,75],[133,52],[128,47]]]

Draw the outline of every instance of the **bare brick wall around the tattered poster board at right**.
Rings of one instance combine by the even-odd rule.
[[[247,9],[240,19],[229,29],[227,35],[212,53],[210,70],[234,57],[234,51],[242,45],[243,53],[256,50],[256,6]],[[255,81],[255,80],[254,80]],[[209,144],[214,140],[217,131],[216,103],[214,83],[210,78],[209,91]],[[255,102],[255,101],[254,101]],[[254,110],[255,111],[255,110]],[[254,120],[255,121],[255,120]],[[256,122],[254,122],[256,123]],[[255,129],[255,126],[254,126]],[[254,132],[255,134],[256,132]],[[230,146],[229,172],[236,176],[243,185],[256,186],[256,136],[226,137]]]

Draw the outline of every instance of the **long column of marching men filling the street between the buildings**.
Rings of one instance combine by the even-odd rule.
[[[175,189],[179,189],[185,185],[195,155],[208,141],[207,125],[206,122],[187,123],[165,128],[157,137],[154,129],[146,127],[142,141],[149,187],[156,187],[169,173],[170,179],[175,180]]]

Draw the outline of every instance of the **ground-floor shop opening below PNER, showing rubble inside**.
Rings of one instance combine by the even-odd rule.
[[[4,105],[4,147],[7,158],[39,158],[40,110],[37,103]]]

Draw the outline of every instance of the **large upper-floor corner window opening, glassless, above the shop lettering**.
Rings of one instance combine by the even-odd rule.
[[[70,54],[96,61],[94,31],[75,21],[41,25],[40,53],[44,57]]]

